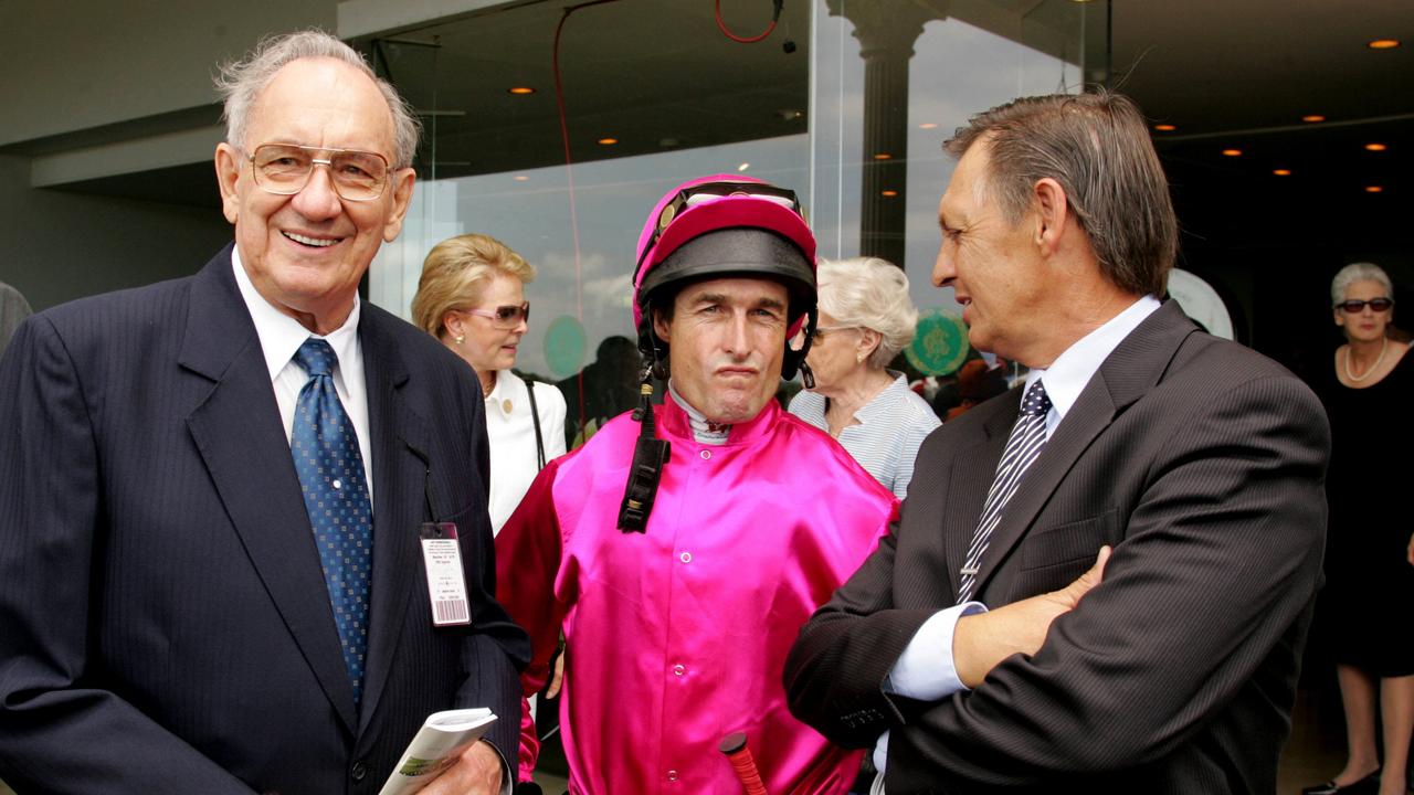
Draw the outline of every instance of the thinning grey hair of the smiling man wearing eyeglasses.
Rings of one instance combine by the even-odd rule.
[[[387,112],[393,117],[393,167],[407,168],[413,164],[419,124],[411,108],[392,83],[373,74],[368,61],[352,47],[318,28],[267,35],[245,58],[221,65],[215,83],[216,92],[225,99],[221,115],[226,120],[226,143],[242,150],[246,147],[246,126],[256,98],[280,69],[303,58],[332,58],[368,75],[387,100]]]

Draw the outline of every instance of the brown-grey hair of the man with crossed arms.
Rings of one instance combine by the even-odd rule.
[[[962,157],[990,153],[986,191],[1011,224],[1031,208],[1039,180],[1055,180],[1090,240],[1100,272],[1126,293],[1164,296],[1178,256],[1168,180],[1138,106],[1097,93],[1024,96],[978,113],[943,144]]]

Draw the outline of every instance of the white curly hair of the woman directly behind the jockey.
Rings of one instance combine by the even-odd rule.
[[[918,307],[908,296],[904,269],[880,257],[820,259],[820,311],[840,325],[858,325],[880,334],[868,365],[888,366],[918,331]]]

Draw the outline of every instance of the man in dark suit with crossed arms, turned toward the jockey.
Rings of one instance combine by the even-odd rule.
[[[947,149],[933,282],[1031,373],[923,444],[894,535],[792,649],[792,709],[874,747],[888,795],[1274,792],[1319,403],[1159,301],[1176,222],[1133,103],[1019,99]]]

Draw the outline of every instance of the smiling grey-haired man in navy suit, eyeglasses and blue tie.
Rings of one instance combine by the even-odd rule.
[[[0,362],[0,777],[376,792],[428,713],[488,706],[424,792],[499,792],[529,649],[492,597],[481,393],[356,293],[416,123],[317,31],[222,89],[235,246],[34,315]],[[457,563],[424,567],[428,528]]]

